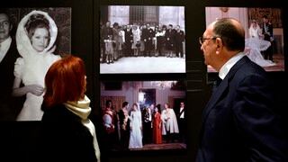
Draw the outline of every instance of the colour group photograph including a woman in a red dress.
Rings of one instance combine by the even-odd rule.
[[[183,137],[187,128],[181,125],[179,129],[182,122],[177,118],[181,115],[184,118],[184,110],[180,108],[186,98],[183,80],[121,81],[114,85],[117,86],[101,82],[105,149],[186,148]]]

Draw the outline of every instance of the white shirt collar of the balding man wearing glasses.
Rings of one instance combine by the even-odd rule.
[[[225,76],[229,73],[229,70],[231,67],[233,67],[239,59],[243,58],[245,55],[242,52],[239,52],[237,55],[233,56],[232,58],[229,58],[229,60],[220,67],[219,70],[219,77],[223,80]]]

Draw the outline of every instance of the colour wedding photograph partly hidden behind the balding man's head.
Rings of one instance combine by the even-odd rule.
[[[284,71],[284,28],[280,8],[206,7],[206,25],[237,19],[246,32],[244,53],[266,71]],[[215,72],[208,66],[208,72]]]

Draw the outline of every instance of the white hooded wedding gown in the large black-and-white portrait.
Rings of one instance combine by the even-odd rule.
[[[31,41],[27,35],[25,24],[29,21],[32,14],[41,14],[49,21],[50,40],[49,45],[43,51],[38,52],[31,46]],[[49,67],[60,57],[52,52],[55,48],[58,28],[49,14],[41,11],[32,11],[23,17],[16,31],[17,49],[22,58],[17,58],[14,66],[14,76],[21,78],[23,85],[41,85],[44,87],[44,77]],[[40,121],[43,112],[40,110],[43,102],[43,94],[40,96],[26,94],[23,108],[17,116],[17,121]]]

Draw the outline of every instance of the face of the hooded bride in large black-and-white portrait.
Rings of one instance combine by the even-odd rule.
[[[48,46],[49,31],[46,28],[37,28],[31,37],[33,49],[41,52]]]

